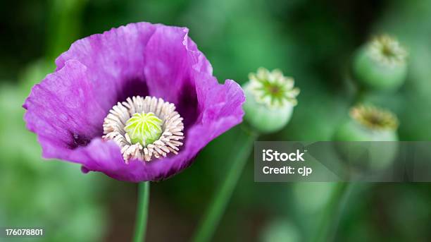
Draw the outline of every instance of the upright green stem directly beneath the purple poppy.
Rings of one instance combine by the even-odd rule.
[[[148,217],[149,181],[138,185],[138,199],[136,208],[135,235],[133,242],[145,241],[146,218]]]

